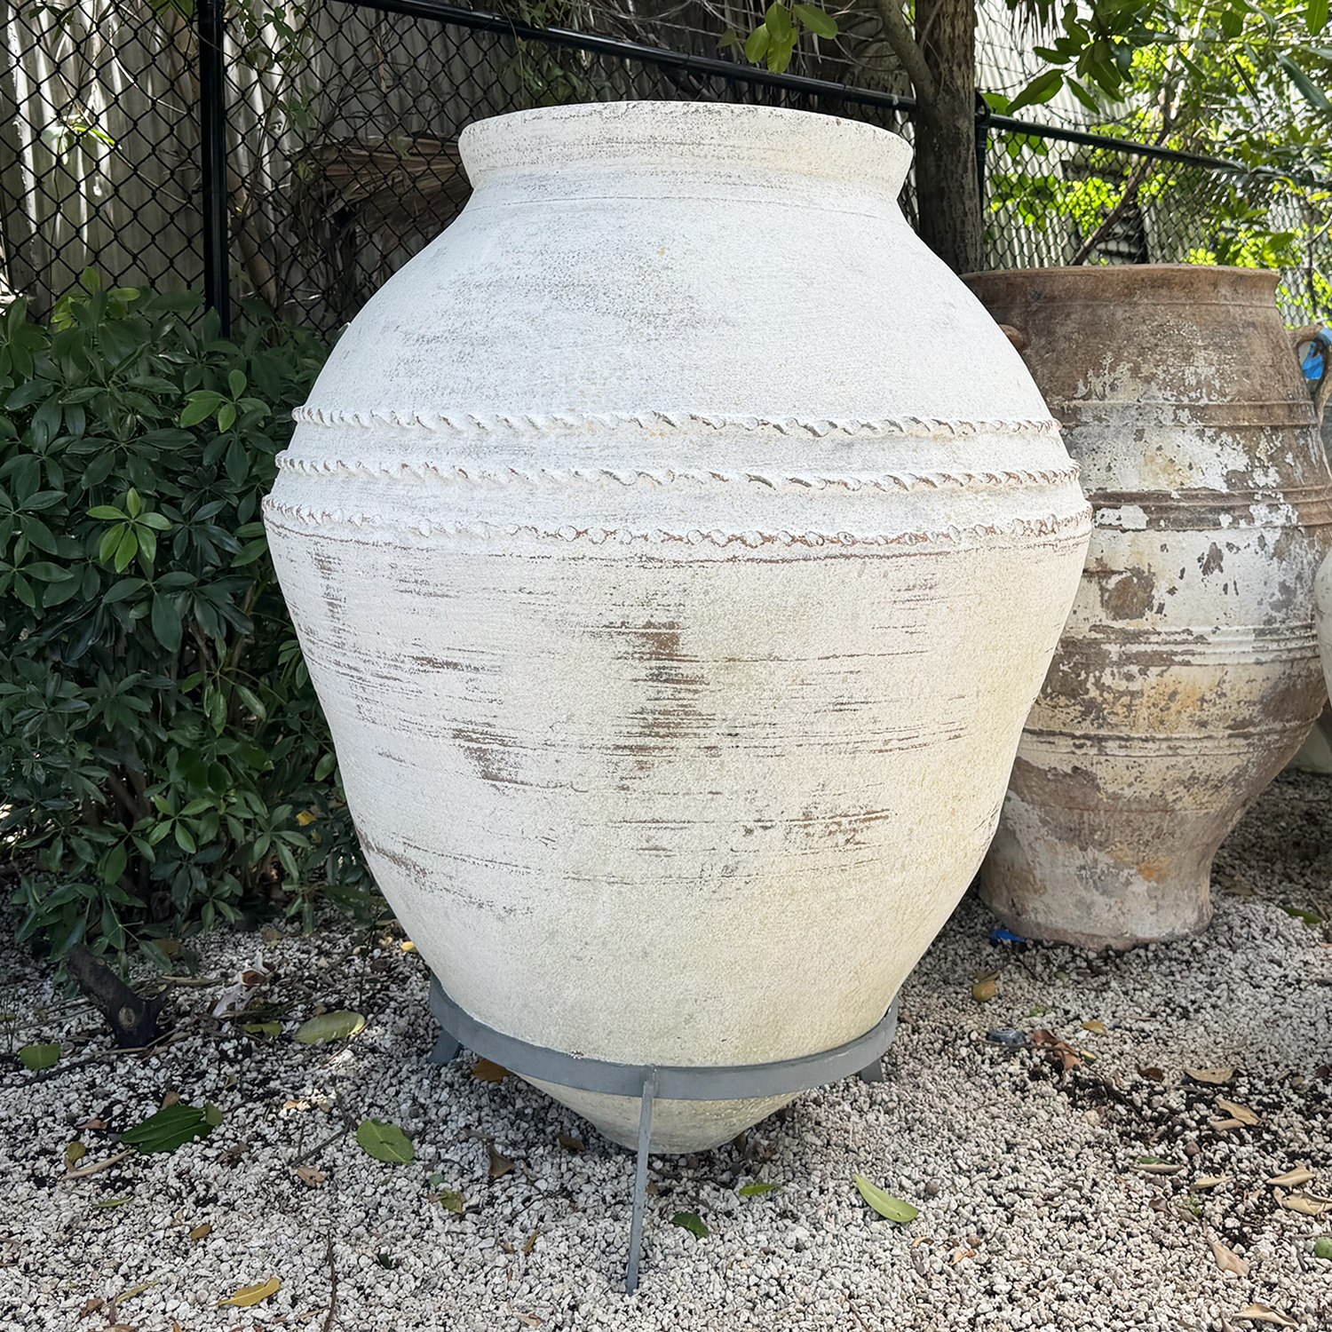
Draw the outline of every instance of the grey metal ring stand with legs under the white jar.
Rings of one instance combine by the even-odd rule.
[[[864,1082],[883,1082],[879,1060],[892,1044],[898,1030],[898,1000],[863,1036],[835,1050],[825,1050],[799,1059],[779,1059],[770,1064],[734,1064],[730,1067],[679,1068],[662,1064],[615,1064],[605,1059],[586,1059],[546,1046],[533,1046],[517,1036],[506,1036],[464,1012],[444,991],[438,976],[430,976],[430,1012],[444,1028],[430,1062],[449,1063],[466,1046],[521,1078],[571,1087],[575,1091],[599,1091],[609,1096],[637,1098],[638,1169],[634,1176],[634,1212],[629,1227],[629,1267],[625,1289],[638,1287],[638,1260],[642,1252],[643,1213],[647,1205],[647,1147],[653,1135],[653,1103],[661,1100],[751,1100],[767,1096],[790,1096],[810,1087],[822,1087],[859,1074]]]

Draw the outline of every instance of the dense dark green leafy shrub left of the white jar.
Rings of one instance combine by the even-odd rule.
[[[260,521],[326,348],[81,286],[0,313],[0,840],[20,938],[165,964],[248,895],[309,926],[369,886]]]

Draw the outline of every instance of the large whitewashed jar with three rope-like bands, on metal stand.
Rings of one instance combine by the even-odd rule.
[[[621,103],[461,152],[466,210],[337,344],[265,509],[369,862],[501,1032],[836,1047],[990,842],[1076,469],[903,221],[900,139]],[[637,1100],[549,1091],[634,1140]],[[783,1099],[663,1100],[654,1150]]]

